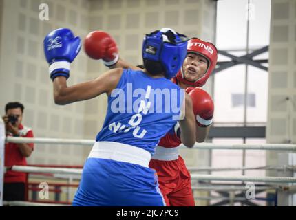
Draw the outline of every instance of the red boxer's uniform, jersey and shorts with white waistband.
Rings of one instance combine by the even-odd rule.
[[[172,81],[177,84],[176,77]],[[172,127],[160,139],[149,167],[156,170],[159,188],[167,206],[195,206],[190,173],[177,148],[182,142],[175,130]]]

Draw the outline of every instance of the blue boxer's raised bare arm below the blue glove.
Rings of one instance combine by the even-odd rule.
[[[63,76],[54,78],[54,102],[56,104],[69,104],[88,100],[106,93],[108,96],[116,88],[123,69],[111,69],[98,78],[84,83],[67,87],[67,80]]]

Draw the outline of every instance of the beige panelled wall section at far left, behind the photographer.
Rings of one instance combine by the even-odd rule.
[[[83,138],[85,103],[54,104],[52,82],[43,55],[43,38],[51,30],[61,27],[85,36],[88,32],[88,4],[87,1],[42,1],[48,4],[50,17],[49,21],[40,21],[40,3],[36,0],[3,1],[1,115],[7,102],[19,101],[25,105],[23,124],[32,127],[36,137]],[[69,85],[85,80],[86,72],[86,56],[81,53],[72,65]],[[84,153],[80,146],[36,144],[28,162],[82,164],[84,158],[81,155]]]

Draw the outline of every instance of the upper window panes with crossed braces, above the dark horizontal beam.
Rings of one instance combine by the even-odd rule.
[[[248,1],[224,0],[218,1],[217,5],[216,46],[218,50],[225,50],[237,57],[246,55]],[[235,8],[235,10],[228,13],[229,8]],[[249,53],[251,53],[269,45],[271,1],[251,0],[249,8]],[[260,64],[267,67],[268,52],[253,57],[253,60],[261,60]],[[218,62],[221,61],[231,61],[231,58],[218,54]],[[248,65],[247,74],[246,122],[266,122],[268,72]],[[233,65],[215,74],[215,123],[244,122],[245,80],[245,64]]]

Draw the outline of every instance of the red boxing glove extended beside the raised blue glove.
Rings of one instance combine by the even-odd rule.
[[[106,32],[94,31],[87,34],[84,50],[89,57],[95,60],[103,59],[107,67],[115,65],[119,60],[116,42]]]

